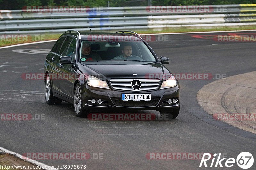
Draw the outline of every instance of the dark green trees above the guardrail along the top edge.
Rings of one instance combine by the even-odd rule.
[[[224,5],[256,4],[256,0],[151,0],[152,6],[160,5]],[[0,0],[1,10],[22,9],[24,6],[148,6],[148,0]]]

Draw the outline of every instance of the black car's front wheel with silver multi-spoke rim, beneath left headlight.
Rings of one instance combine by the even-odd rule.
[[[79,83],[76,84],[74,91],[74,111],[77,117],[86,117],[86,110],[83,107],[82,90]]]

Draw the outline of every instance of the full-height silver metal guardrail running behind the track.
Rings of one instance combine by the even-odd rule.
[[[169,6],[172,8],[173,6]],[[256,25],[256,4],[209,5],[207,12],[159,11],[150,7],[88,8],[86,12],[0,10],[0,34],[62,33],[76,30],[145,29],[182,26]],[[176,6],[177,8],[177,6]],[[72,18],[72,19],[71,19]]]

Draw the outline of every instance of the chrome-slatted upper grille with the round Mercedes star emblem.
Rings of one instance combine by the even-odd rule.
[[[131,86],[133,79],[111,79],[110,84],[113,89],[117,90],[129,90],[129,91],[143,91],[143,90],[155,90],[159,86],[160,80],[156,79],[136,79],[141,82],[141,87],[139,90],[134,90]]]

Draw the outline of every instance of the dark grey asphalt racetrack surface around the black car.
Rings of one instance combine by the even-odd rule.
[[[168,35],[169,41],[149,44],[158,56],[170,58],[167,67],[173,73],[220,73],[228,77],[255,71],[254,42],[217,42],[191,37],[221,34],[226,33]],[[0,68],[0,113],[45,114],[45,120],[0,121],[1,147],[21,155],[103,153],[103,159],[38,160],[55,166],[84,164],[87,169],[202,169],[200,160],[148,160],[147,153],[221,152],[236,159],[240,152],[250,152],[256,159],[255,134],[214,120],[197,103],[197,92],[214,80],[180,80],[180,115],[170,121],[91,121],[76,117],[73,106],[66,102],[47,105],[44,82],[21,78],[21,73],[42,72],[46,55],[12,50],[50,49],[53,44],[0,50],[0,65],[4,65]],[[159,114],[157,111],[139,113]],[[255,167],[254,162],[251,169]],[[219,169],[239,167],[235,163],[232,168]]]

